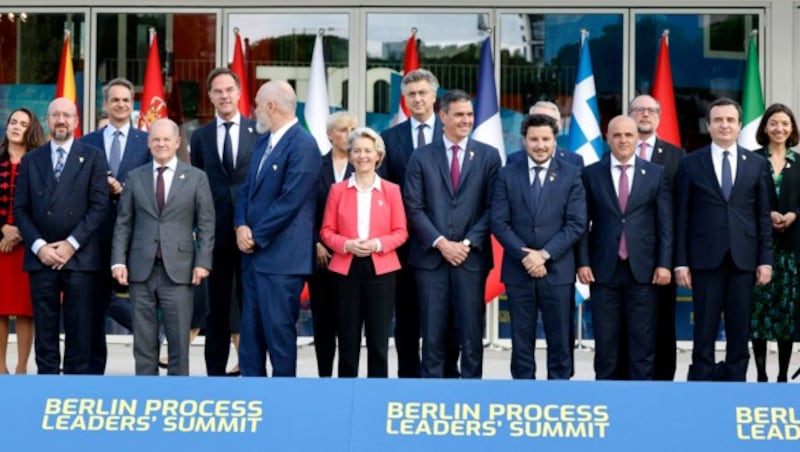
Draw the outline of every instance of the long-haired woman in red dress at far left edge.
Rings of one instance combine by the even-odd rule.
[[[14,373],[27,373],[33,343],[33,308],[28,274],[22,271],[25,245],[14,226],[14,186],[19,162],[46,141],[42,125],[28,109],[11,112],[0,143],[0,374],[7,374],[9,317],[16,316],[17,354]]]

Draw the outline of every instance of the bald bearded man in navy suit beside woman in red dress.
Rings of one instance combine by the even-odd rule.
[[[30,275],[40,374],[59,371],[62,309],[64,373],[90,370],[92,288],[103,265],[97,231],[108,209],[108,182],[103,152],[75,141],[77,125],[74,102],[52,101],[52,138],[22,159],[17,176],[14,219],[27,246],[23,269]]]

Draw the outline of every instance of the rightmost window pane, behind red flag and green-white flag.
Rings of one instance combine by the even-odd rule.
[[[669,30],[675,106],[686,149],[708,144],[705,115],[711,101],[741,100],[747,38],[757,28],[757,14],[636,15],[636,92],[651,92],[659,40]]]

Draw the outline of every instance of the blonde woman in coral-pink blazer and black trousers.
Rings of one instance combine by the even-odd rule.
[[[367,376],[386,378],[389,328],[394,312],[395,250],[408,239],[400,187],[375,171],[386,155],[374,130],[347,138],[355,169],[328,194],[320,238],[333,250],[328,269],[339,291],[339,377],[358,376],[361,328],[367,337]]]

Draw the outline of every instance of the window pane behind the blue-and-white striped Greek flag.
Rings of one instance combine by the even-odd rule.
[[[503,14],[501,20],[500,104],[507,153],[522,148],[519,124],[539,100],[561,109],[558,143],[567,147],[581,28],[589,31],[601,129],[622,112],[621,14]]]

